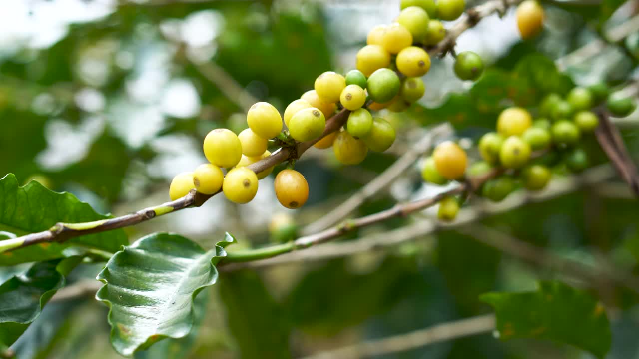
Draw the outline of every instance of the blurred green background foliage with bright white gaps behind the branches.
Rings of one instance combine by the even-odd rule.
[[[468,6],[481,1],[468,1]],[[240,246],[268,242],[273,213],[307,224],[330,211],[419,139],[420,128],[449,121],[466,144],[495,125],[512,103],[533,106],[544,94],[604,80],[623,86],[639,75],[639,32],[574,61],[566,57],[599,33],[636,17],[636,1],[552,1],[544,32],[521,42],[513,11],[466,31],[458,50],[473,50],[491,68],[472,87],[452,74],[452,58],[433,59],[426,96],[406,114],[385,113],[398,128],[390,153],[341,167],[332,151],[309,151],[297,169],[311,197],[284,210],[260,183],[256,200],[236,206],[216,196],[202,208],[127,228],[129,240],[173,231],[210,248],[224,231]],[[619,6],[621,6],[619,8]],[[619,8],[613,13],[613,10]],[[123,214],[168,199],[168,181],[204,162],[201,142],[212,128],[239,132],[250,99],[280,110],[327,70],[354,66],[376,24],[399,13],[398,1],[13,0],[0,3],[0,175],[37,179],[69,191],[103,213]],[[610,17],[610,19],[608,19]],[[635,18],[636,22],[636,18]],[[557,72],[558,61],[564,73]],[[570,61],[568,61],[570,60]],[[620,123],[639,158],[639,114]],[[443,140],[438,139],[438,141]],[[587,150],[604,162],[596,141]],[[396,201],[432,195],[419,164],[390,190],[358,209],[366,215]],[[277,172],[277,169],[276,171]],[[436,210],[435,210],[436,211]],[[433,210],[424,212],[432,216]],[[482,220],[560,256],[585,263],[606,257],[639,269],[639,207],[617,181],[529,204]],[[397,219],[350,237],[379,233]],[[534,225],[532,225],[534,224]],[[95,278],[83,264],[69,284]],[[495,290],[526,290],[562,274],[522,264],[467,234],[440,231],[387,252],[259,271],[222,273],[198,297],[196,332],[165,340],[140,358],[286,358],[490,312],[478,300]],[[635,293],[602,281],[587,287],[618,314],[608,358],[639,358]],[[95,292],[94,292],[95,293]],[[107,309],[93,294],[50,303],[13,346],[19,358],[116,358]],[[208,300],[207,300],[208,299]],[[387,358],[590,358],[540,340],[493,336],[435,344]]]

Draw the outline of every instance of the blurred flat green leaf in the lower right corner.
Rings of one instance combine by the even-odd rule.
[[[612,345],[603,305],[589,294],[561,282],[540,282],[523,293],[486,293],[495,308],[502,340],[539,338],[572,344],[603,358]]]

